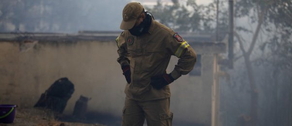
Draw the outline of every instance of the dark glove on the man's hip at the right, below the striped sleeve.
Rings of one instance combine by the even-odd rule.
[[[171,74],[167,74],[165,72],[162,76],[152,77],[150,84],[153,88],[159,90],[173,81],[175,81],[175,79],[171,76]]]

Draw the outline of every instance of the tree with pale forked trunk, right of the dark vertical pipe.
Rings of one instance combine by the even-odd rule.
[[[257,43],[259,43],[259,34],[262,33],[273,33],[271,28],[274,28],[274,36],[270,38],[270,42],[262,42],[262,50],[267,44],[279,44],[285,43],[288,46],[282,48],[281,46],[276,46],[276,50],[281,50],[282,53],[289,53],[292,49],[291,47],[291,31],[292,25],[290,21],[292,20],[292,4],[290,0],[238,0],[236,2],[235,17],[243,18],[247,17],[251,19],[251,24],[256,25],[255,29],[247,29],[244,27],[237,27],[235,31],[236,39],[240,44],[240,49],[245,62],[245,67],[247,70],[248,80],[251,89],[251,102],[250,102],[250,120],[245,122],[245,126],[256,126],[258,124],[258,102],[259,102],[259,89],[255,81],[255,71],[252,65],[251,56],[255,50]],[[254,32],[252,32],[254,30]],[[240,36],[239,32],[249,32],[252,34],[251,40],[244,41]],[[279,34],[280,33],[280,34]],[[281,39],[277,39],[278,36]],[[266,36],[270,37],[270,36]],[[289,42],[290,39],[290,42]],[[246,46],[248,49],[246,50]],[[259,45],[259,44],[258,44]],[[270,46],[273,48],[275,46]],[[290,51],[291,52],[291,51]],[[291,54],[291,53],[290,53]],[[273,53],[273,55],[283,56],[281,53]],[[284,62],[286,60],[291,60],[291,57],[284,57]],[[277,61],[276,63],[284,63],[283,61]],[[285,63],[287,67],[291,68],[291,63]]]

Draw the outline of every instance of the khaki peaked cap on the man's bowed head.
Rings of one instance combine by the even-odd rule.
[[[143,6],[138,2],[128,3],[123,10],[123,21],[120,28],[129,30],[134,27],[137,18],[143,11]]]

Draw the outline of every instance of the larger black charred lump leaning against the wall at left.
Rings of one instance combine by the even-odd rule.
[[[62,113],[73,92],[74,84],[66,77],[61,78],[55,81],[55,83],[41,95],[41,98],[34,107],[42,107]]]

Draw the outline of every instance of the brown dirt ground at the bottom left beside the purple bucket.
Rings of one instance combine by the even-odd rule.
[[[16,117],[12,124],[0,126],[104,126],[100,124],[82,124],[61,122],[55,119],[54,113],[38,108],[16,108]]]

